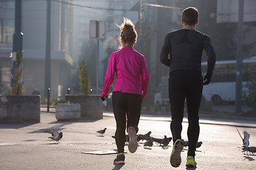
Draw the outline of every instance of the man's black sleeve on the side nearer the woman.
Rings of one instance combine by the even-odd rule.
[[[168,57],[170,51],[171,51],[171,41],[170,41],[170,33],[169,33],[164,38],[164,45],[161,49],[161,54],[160,54],[160,62],[165,64],[167,67],[170,67],[170,64],[171,64],[171,60]]]

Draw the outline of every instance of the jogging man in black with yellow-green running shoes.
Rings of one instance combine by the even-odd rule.
[[[186,98],[188,109],[188,157],[186,166],[196,166],[195,151],[199,137],[198,111],[203,85],[210,83],[215,66],[215,52],[210,37],[196,30],[198,10],[188,7],[182,12],[183,29],[168,33],[161,49],[160,61],[169,67],[169,100],[171,105],[171,133],[174,147],[171,166],[181,164],[183,108]],[[203,50],[208,56],[206,75],[201,74]]]

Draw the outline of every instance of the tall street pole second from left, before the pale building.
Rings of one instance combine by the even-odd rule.
[[[45,86],[44,96],[48,95],[50,89],[50,0],[47,0],[46,16],[46,62],[45,62]]]

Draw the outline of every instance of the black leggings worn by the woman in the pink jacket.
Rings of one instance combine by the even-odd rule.
[[[117,123],[115,141],[118,153],[124,152],[126,122],[127,129],[134,127],[138,132],[139,118],[142,108],[142,96],[114,91],[112,96],[114,118]]]

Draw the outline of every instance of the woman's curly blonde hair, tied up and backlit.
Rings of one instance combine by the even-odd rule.
[[[131,20],[124,18],[123,23],[118,27],[120,28],[119,41],[121,44],[122,40],[124,43],[128,43],[129,45],[132,45],[134,40],[137,40],[137,32],[135,30],[134,23],[132,23]]]

